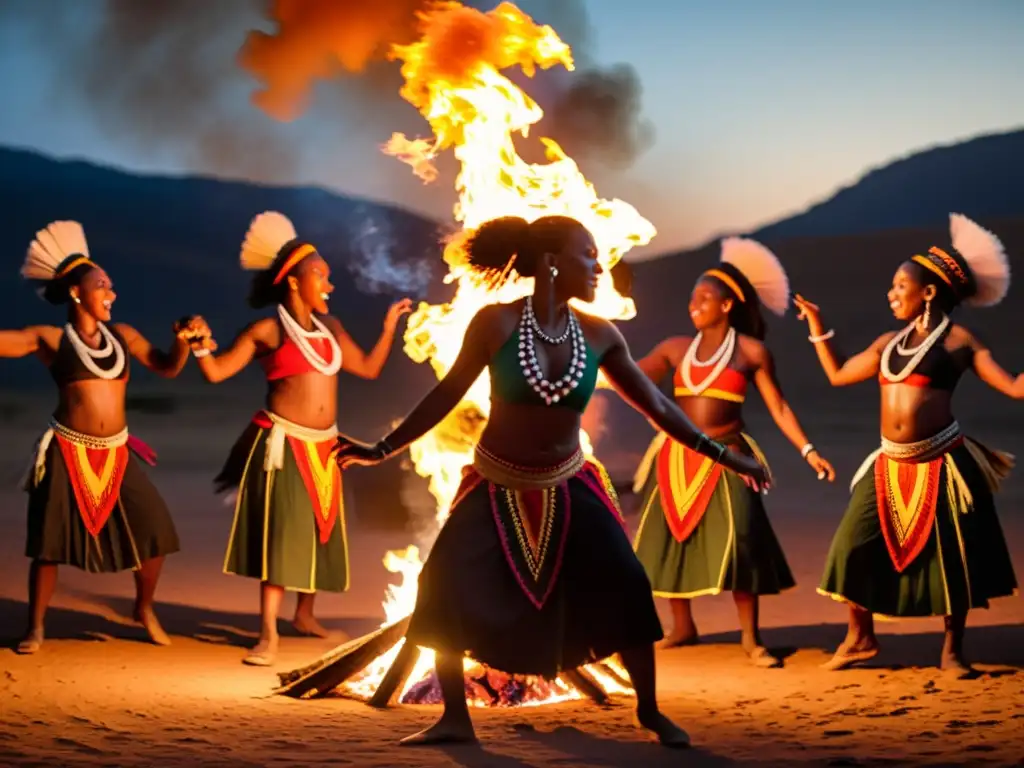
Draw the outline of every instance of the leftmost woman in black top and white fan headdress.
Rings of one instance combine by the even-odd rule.
[[[91,573],[131,568],[134,618],[154,643],[168,645],[153,599],[164,557],[178,551],[178,535],[136,458],[154,464],[156,455],[128,435],[125,392],[130,357],[173,379],[188,359],[188,346],[175,339],[170,351],[162,352],[131,326],[108,327],[117,299],[114,284],[89,256],[76,221],[54,221],[36,233],[22,276],[50,304],[68,304],[68,323],[0,332],[0,357],[35,354],[59,393],[25,483],[25,553],[32,565],[29,628],[17,652],[35,653],[43,644],[59,565]]]

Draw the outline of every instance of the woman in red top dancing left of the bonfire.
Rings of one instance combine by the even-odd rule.
[[[222,354],[209,326],[189,326],[199,367],[210,382],[254,359],[267,380],[266,407],[234,443],[217,476],[218,492],[238,488],[224,572],[260,580],[259,640],[243,662],[265,667],[278,651],[278,613],[286,590],[299,593],[293,627],[328,637],[313,616],[316,592],[349,586],[341,474],[330,460],[338,429],[338,372],[376,379],[409,299],[391,306],[369,354],[328,314],[331,269],[276,212],[253,219],[242,266],[255,271],[249,304],[276,305],[275,317],[246,328]]]

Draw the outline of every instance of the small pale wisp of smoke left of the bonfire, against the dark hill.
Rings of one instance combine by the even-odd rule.
[[[426,259],[394,260],[398,247],[391,223],[359,206],[352,217],[346,266],[355,285],[366,294],[423,296],[430,284],[433,263]]]

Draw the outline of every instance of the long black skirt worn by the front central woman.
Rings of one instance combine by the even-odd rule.
[[[596,465],[527,493],[467,470],[420,573],[410,642],[554,677],[663,637],[650,582]]]

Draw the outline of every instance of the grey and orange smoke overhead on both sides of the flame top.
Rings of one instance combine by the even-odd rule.
[[[423,5],[423,0],[0,0],[0,24],[19,23],[34,35],[40,50],[56,59],[55,95],[79,103],[108,135],[141,152],[173,154],[214,174],[290,182],[309,158],[294,132],[278,121],[311,109],[317,116],[341,115],[347,129],[369,133],[375,142],[392,130],[422,132],[422,122],[397,95],[398,66],[385,59],[391,43],[412,41],[414,14]],[[541,132],[573,156],[628,165],[652,140],[640,119],[635,71],[592,66],[583,0],[519,5],[551,24],[577,60],[577,72],[542,73],[550,77],[539,76],[531,84],[548,112]],[[269,29],[272,18],[284,35]],[[272,37],[260,33],[261,27]],[[267,90],[249,73],[265,76],[270,65],[276,74]],[[317,81],[329,86],[314,93],[310,86]],[[247,109],[250,97],[278,121]]]

